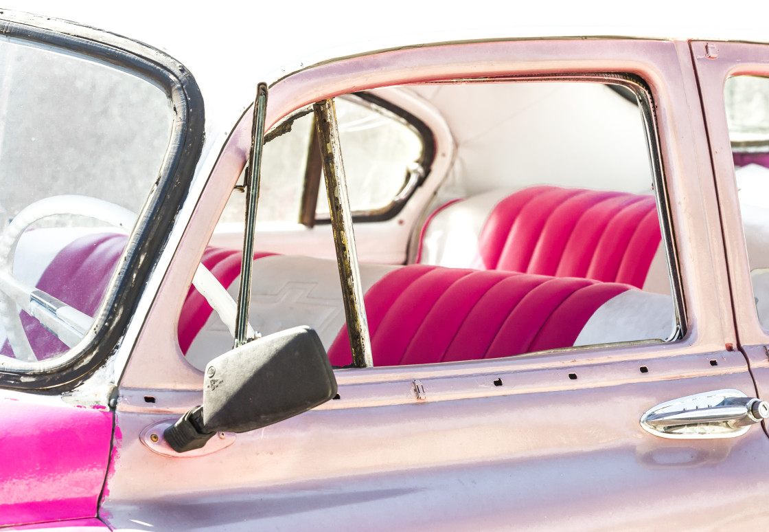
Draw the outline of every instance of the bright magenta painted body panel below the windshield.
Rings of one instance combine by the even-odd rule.
[[[0,395],[0,526],[96,516],[112,412]]]

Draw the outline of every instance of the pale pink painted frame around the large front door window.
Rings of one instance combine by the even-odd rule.
[[[611,44],[611,47],[608,46]],[[684,43],[684,48],[686,43]],[[461,60],[446,64],[448,59],[444,55],[454,54],[454,49],[462,48],[457,55]],[[491,48],[491,52],[504,54],[504,57],[517,58],[515,61],[489,60],[484,62],[484,69],[479,72],[478,63],[472,59],[475,50],[481,53]],[[558,49],[562,55],[553,51]],[[384,52],[375,52],[381,54]],[[707,179],[712,179],[708,173],[709,166],[705,166],[705,159],[700,154],[707,153],[701,148],[701,139],[704,132],[698,129],[701,124],[701,109],[698,102],[691,102],[687,97],[687,89],[694,84],[694,73],[690,69],[682,69],[681,62],[687,60],[680,42],[670,41],[644,41],[633,39],[617,39],[611,43],[602,39],[585,39],[574,41],[568,38],[537,40],[537,41],[498,41],[498,42],[458,42],[441,43],[433,47],[422,46],[418,49],[394,49],[388,51],[398,57],[391,59],[390,69],[397,72],[368,72],[371,68],[366,64],[365,54],[341,58],[332,62],[323,62],[319,65],[302,69],[298,72],[281,77],[271,85],[271,107],[268,106],[267,126],[281,119],[281,117],[294,112],[296,109],[309,105],[312,102],[345,94],[350,79],[355,78],[355,86],[359,89],[369,89],[378,86],[390,86],[408,84],[408,82],[440,81],[452,79],[462,81],[470,78],[483,78],[502,76],[506,78],[531,75],[552,75],[553,77],[571,75],[598,75],[605,72],[626,73],[638,75],[646,82],[654,96],[654,115],[659,129],[657,138],[661,143],[661,161],[666,186],[669,189],[667,208],[671,210],[672,224],[677,229],[671,235],[671,240],[677,246],[679,256],[679,274],[681,276],[682,294],[687,312],[687,333],[681,339],[670,343],[642,343],[629,345],[603,345],[590,348],[578,348],[584,357],[575,359],[574,349],[559,350],[557,352],[534,353],[530,356],[514,356],[499,360],[463,361],[457,363],[445,363],[434,365],[415,366],[378,366],[365,370],[337,370],[337,379],[340,386],[345,383],[373,384],[389,380],[405,378],[428,378],[435,376],[462,376],[469,374],[495,373],[504,368],[519,370],[537,365],[554,367],[564,364],[611,363],[612,360],[654,360],[656,358],[669,358],[677,356],[694,356],[697,360],[701,353],[708,350],[710,353],[719,353],[725,349],[725,345],[734,339],[734,323],[731,315],[725,312],[728,306],[728,290],[724,295],[724,286],[721,280],[714,276],[714,269],[720,271],[724,264],[721,257],[711,256],[708,250],[712,248],[711,240],[720,244],[721,233],[702,231],[702,227],[711,227],[713,220],[706,206],[714,202],[714,191],[707,188]],[[531,53],[524,61],[523,57]],[[565,59],[564,59],[565,58]],[[688,58],[691,61],[691,58]],[[474,62],[475,61],[475,62]],[[377,63],[381,65],[381,62]],[[333,75],[327,75],[325,69],[331,69]],[[447,73],[451,71],[451,73]],[[410,77],[411,76],[411,77]],[[365,80],[365,82],[361,82]],[[384,80],[387,80],[386,82]],[[671,85],[672,83],[672,85]],[[361,86],[362,85],[362,86]],[[696,86],[696,85],[695,85]],[[280,91],[278,91],[280,87]],[[696,104],[696,105],[695,105]],[[699,119],[699,121],[698,121]],[[233,166],[242,168],[243,142],[241,146],[235,146],[237,139],[245,139],[241,130],[251,127],[250,120],[242,120],[238,124],[238,130],[232,133],[234,144],[225,147],[222,158],[217,166],[222,169]],[[684,139],[691,142],[681,142],[681,131]],[[695,135],[694,131],[697,131]],[[692,174],[691,167],[697,169]],[[209,186],[200,201],[213,206],[216,203],[223,205],[222,195],[226,195],[235,185],[237,177],[233,174],[224,176],[218,174],[215,169],[209,179]],[[215,183],[215,184],[214,184]],[[696,191],[697,193],[694,193]],[[713,192],[711,194],[711,192]],[[703,199],[703,196],[705,199]],[[692,223],[697,219],[697,223]],[[190,223],[185,230],[184,239],[188,239],[185,249],[177,250],[171,260],[171,269],[177,269],[177,273],[171,274],[176,278],[183,269],[181,263],[189,263],[199,259],[202,250],[208,242],[207,237],[213,233],[215,220],[201,219],[200,216],[191,216]],[[194,244],[192,241],[194,240]],[[699,260],[697,260],[699,259]],[[191,273],[186,273],[191,279]],[[176,283],[181,282],[177,280]],[[709,283],[707,297],[701,283]],[[713,289],[716,286],[716,289]],[[162,303],[156,304],[151,309],[151,314],[156,312],[173,313],[178,316],[181,309],[181,299],[177,296],[169,296],[161,286],[158,299]],[[170,299],[165,299],[169,297]],[[715,303],[714,303],[715,299]],[[157,303],[157,301],[156,301]],[[150,315],[151,315],[150,314]],[[165,320],[168,322],[168,320]],[[153,323],[149,320],[148,323]],[[134,356],[128,364],[124,374],[124,383],[130,387],[154,388],[163,383],[167,386],[168,377],[154,379],[148,376],[151,367],[157,367],[161,363],[163,371],[170,371],[178,376],[174,380],[175,387],[184,387],[185,390],[197,390],[201,384],[193,378],[199,375],[198,370],[192,369],[184,361],[184,356],[178,350],[178,346],[169,341],[162,332],[159,323],[148,330],[146,337],[154,342],[161,342],[164,350],[175,350],[175,356],[167,356],[162,362],[157,357],[150,357],[145,352],[146,346],[137,344]],[[171,339],[175,340],[175,338]],[[155,343],[153,353],[157,351]],[[721,371],[722,368],[716,368]]]

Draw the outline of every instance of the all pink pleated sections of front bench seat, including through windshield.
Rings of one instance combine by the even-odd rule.
[[[125,236],[115,234],[75,239],[45,269],[38,289],[93,315],[124,247]],[[266,255],[258,253],[255,259]],[[202,263],[224,286],[240,273],[237,250],[208,248]],[[334,261],[328,267],[335,269]],[[595,311],[628,289],[584,278],[403,266],[384,273],[365,294],[375,366],[480,360],[572,346]],[[211,312],[191,288],[178,323],[182,352]],[[36,320],[22,320],[40,358],[67,349]],[[3,354],[11,354],[7,342]],[[336,366],[351,363],[345,326],[328,356]]]

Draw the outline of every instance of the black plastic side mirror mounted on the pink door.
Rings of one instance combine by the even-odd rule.
[[[203,406],[163,433],[177,453],[199,449],[218,431],[248,432],[278,423],[337,393],[318,333],[307,326],[253,340],[205,366]]]

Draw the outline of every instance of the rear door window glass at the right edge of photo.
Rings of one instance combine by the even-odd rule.
[[[769,330],[769,78],[727,79],[724,102],[754,300]]]

